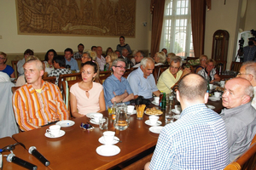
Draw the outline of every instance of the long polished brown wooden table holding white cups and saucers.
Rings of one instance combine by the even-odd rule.
[[[214,104],[209,102],[209,105]],[[108,116],[108,111],[102,113]],[[111,120],[111,116],[108,118]],[[36,146],[38,151],[50,161],[49,167],[52,169],[111,169],[154,148],[159,134],[149,132],[149,126],[145,124],[146,120],[148,116],[145,114],[141,121],[137,120],[136,115],[132,115],[130,126],[125,131],[116,130],[113,121],[109,121],[108,130],[115,131],[115,136],[122,141],[116,144],[121,150],[120,153],[109,157],[99,156],[96,153],[96,148],[102,145],[98,139],[102,137],[104,131],[97,125],[94,125],[96,128],[93,131],[80,127],[81,122],[89,122],[86,116],[73,119],[75,122],[73,127],[61,127],[66,132],[61,138],[46,138],[44,133],[48,127],[17,133],[13,138],[25,144],[26,148]],[[166,125],[165,113],[159,120],[162,126]]]

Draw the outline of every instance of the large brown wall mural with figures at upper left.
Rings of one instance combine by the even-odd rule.
[[[18,33],[135,37],[136,0],[16,0]]]

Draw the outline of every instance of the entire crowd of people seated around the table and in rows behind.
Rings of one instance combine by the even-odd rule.
[[[125,37],[119,37],[119,42],[116,51],[108,48],[106,54],[102,54],[101,46],[92,46],[91,51],[84,52],[81,43],[74,55],[71,48],[65,49],[64,56],[49,49],[43,62],[33,56],[31,49],[26,49],[24,59],[17,64],[20,88],[13,94],[20,130],[105,111],[114,102],[130,105],[131,99],[138,96],[151,99],[161,92],[170,94],[175,90],[182,107],[180,119],[161,130],[152,160],[145,169],[223,169],[247,150],[256,133],[255,62],[244,63],[237,77],[225,83],[224,109],[218,115],[205,105],[207,83],[220,81],[213,59],[202,55],[201,65],[191,73],[190,68],[183,69],[182,59],[167,54],[166,48],[154,54],[154,59],[140,50],[129,59],[131,48],[125,44]],[[14,77],[13,68],[5,65],[6,59],[7,55],[0,52],[0,73]],[[81,59],[80,70],[77,59]],[[126,79],[128,65],[133,69]],[[168,68],[155,82],[152,73],[160,65]],[[80,71],[81,80],[69,89],[70,114],[57,85],[60,75],[73,71]],[[112,75],[102,82],[100,71],[112,71]],[[57,77],[55,84],[44,82],[45,72],[48,77]]]

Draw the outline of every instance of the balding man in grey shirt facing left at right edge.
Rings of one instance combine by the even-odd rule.
[[[251,105],[253,87],[244,78],[226,82],[221,111],[228,133],[230,161],[248,149],[256,133],[256,111]]]

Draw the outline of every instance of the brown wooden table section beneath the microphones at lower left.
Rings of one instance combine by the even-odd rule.
[[[15,139],[12,139],[10,137],[5,137],[0,139],[0,148],[3,148],[4,146],[7,146],[9,144],[15,144],[17,141]],[[44,167],[44,165],[38,161],[37,158],[32,156],[31,154],[28,153],[27,150],[25,150],[22,146],[20,145],[15,145],[15,150],[14,154],[15,156],[19,157],[20,159],[23,159],[25,161],[29,161],[30,163],[38,166],[38,169],[49,169],[48,167]],[[9,151],[5,151],[2,153],[2,155],[9,155]],[[8,162],[6,161],[6,157],[3,157],[3,170],[9,170],[9,169],[26,169],[25,167],[20,167],[19,165],[13,163],[13,162]]]

